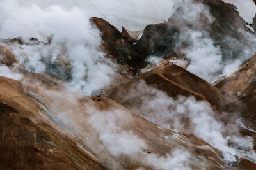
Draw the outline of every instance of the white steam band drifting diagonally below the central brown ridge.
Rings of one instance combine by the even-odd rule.
[[[133,89],[132,89],[133,88]],[[166,93],[147,86],[143,81],[128,92],[130,98],[136,97],[136,104],[127,106],[150,122],[179,132],[189,132],[220,149],[225,160],[233,162],[237,148],[254,153],[253,139],[243,138],[235,124],[225,127],[215,117],[220,113],[210,108],[205,101],[196,101],[194,97],[180,96],[176,100]],[[143,91],[145,95],[138,96]],[[228,146],[232,142],[233,146]]]

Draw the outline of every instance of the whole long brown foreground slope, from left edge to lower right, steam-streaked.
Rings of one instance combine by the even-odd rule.
[[[0,77],[0,111],[1,169],[106,169],[113,164],[122,169],[155,169],[157,162],[152,164],[149,160],[154,155],[156,159],[166,159],[166,154],[172,155],[174,148],[183,148],[196,160],[184,163],[192,169],[225,166],[220,152],[204,141],[157,127],[104,97],[47,91]],[[96,122],[95,127],[92,123],[95,117],[103,122],[113,121],[116,126],[111,130],[113,134],[127,132],[145,142],[147,146],[138,153],[140,159],[134,160],[138,157],[136,152],[113,155],[100,138],[106,134],[104,129],[112,128],[113,124],[103,124],[103,130],[99,131],[102,123]],[[68,122],[63,121],[65,118]]]

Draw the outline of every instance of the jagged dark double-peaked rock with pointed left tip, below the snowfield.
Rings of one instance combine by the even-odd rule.
[[[105,52],[135,69],[145,67],[149,55],[170,57],[179,35],[179,29],[175,27],[156,24],[145,27],[141,38],[136,40],[124,27],[119,32],[102,18],[93,17],[91,20],[101,32]]]

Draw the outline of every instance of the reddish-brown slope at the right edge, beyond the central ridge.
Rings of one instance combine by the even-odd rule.
[[[223,110],[237,113],[245,124],[256,129],[256,55],[246,60],[238,71],[218,82],[215,87],[233,94],[238,99]]]

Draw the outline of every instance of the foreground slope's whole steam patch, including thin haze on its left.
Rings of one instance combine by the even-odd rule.
[[[49,92],[49,94],[57,99],[63,97],[56,92]],[[65,100],[61,101],[62,99],[46,104],[49,110],[43,106],[45,113],[48,114],[47,117],[51,117],[52,122],[72,136],[76,136],[93,153],[99,154],[100,158],[108,159],[104,161],[111,163],[112,169],[123,169],[122,165],[118,163],[122,159],[129,160],[128,164],[164,170],[191,169],[191,164],[200,161],[191,155],[189,148],[184,148],[178,143],[175,143],[172,150],[166,152],[165,155],[148,153],[149,141],[138,136],[133,131],[136,127],[131,126],[138,117],[134,117],[133,113],[125,108],[113,107],[99,110],[97,102],[101,103],[102,101],[96,101],[96,103],[86,101],[86,103],[80,104],[74,96],[66,97],[72,99],[67,104],[67,108],[63,108]],[[140,129],[140,125],[138,128]],[[164,138],[164,136],[159,138]],[[164,142],[168,143],[166,140]],[[108,154],[113,157],[113,160]],[[204,164],[201,164],[200,167],[204,167]]]

